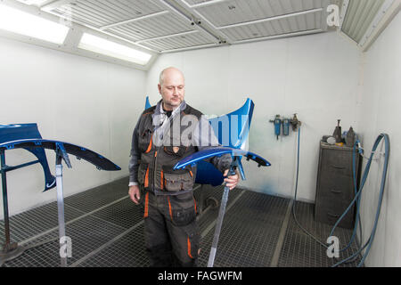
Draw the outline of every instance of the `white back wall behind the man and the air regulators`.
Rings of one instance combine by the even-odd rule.
[[[220,48],[161,55],[148,72],[146,92],[160,100],[160,71],[184,71],[185,100],[208,115],[221,115],[255,102],[249,149],[272,163],[261,167],[244,161],[241,186],[272,195],[294,193],[297,133],[274,136],[269,123],[276,114],[302,121],[299,199],[314,201],[319,142],[341,126],[356,126],[359,52],[336,33],[291,37]],[[356,130],[357,131],[357,130]]]

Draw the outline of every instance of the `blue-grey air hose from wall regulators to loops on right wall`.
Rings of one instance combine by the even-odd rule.
[[[324,244],[322,241],[320,241],[317,238],[315,238],[315,236],[313,234],[311,234],[310,232],[307,232],[307,230],[304,227],[302,227],[301,224],[299,224],[299,221],[298,221],[297,216],[295,214],[295,204],[296,204],[296,201],[297,201],[298,179],[299,179],[299,138],[300,138],[300,126],[299,126],[299,133],[298,133],[297,175],[296,175],[296,183],[295,183],[295,194],[294,194],[294,200],[293,200],[292,209],[291,209],[292,210],[292,216],[293,216],[296,224],[298,224],[299,228],[303,232],[306,232],[309,237],[311,237],[313,240],[318,242],[324,248],[328,248],[328,246],[326,244]],[[379,216],[380,216],[380,213],[381,213],[381,204],[382,204],[382,199],[383,199],[384,187],[385,187],[385,183],[386,183],[387,169],[388,169],[388,166],[389,166],[389,134],[380,134],[377,137],[376,142],[374,142],[373,148],[372,148],[372,152],[371,152],[371,156],[368,159],[366,167],[364,168],[364,175],[362,176],[362,182],[361,182],[361,184],[359,186],[359,190],[358,191],[356,191],[357,186],[356,186],[355,156],[356,156],[356,145],[359,144],[359,142],[356,141],[356,143],[354,144],[352,164],[353,164],[353,180],[354,180],[355,198],[351,201],[351,203],[349,204],[348,208],[344,211],[344,213],[340,216],[340,218],[334,224],[334,226],[331,229],[331,233],[329,235],[329,237],[332,236],[334,230],[340,224],[341,220],[344,218],[344,216],[347,215],[348,211],[356,203],[356,223],[355,223],[355,226],[354,226],[352,237],[349,240],[348,245],[345,248],[340,249],[340,251],[343,251],[343,250],[349,248],[350,245],[352,244],[352,242],[355,240],[356,228],[357,228],[358,224],[360,225],[360,237],[362,237],[362,226],[361,226],[361,218],[360,218],[360,213],[359,213],[359,211],[360,211],[360,200],[361,200],[361,196],[362,196],[361,194],[362,194],[362,190],[364,189],[364,183],[366,182],[367,176],[369,175],[369,171],[370,171],[371,164],[372,164],[372,159],[373,159],[373,154],[376,151],[377,147],[379,146],[379,143],[381,142],[381,140],[383,138],[384,138],[384,142],[385,142],[385,159],[384,159],[383,171],[382,171],[382,176],[381,176],[381,189],[380,189],[380,194],[379,194],[379,201],[378,201],[378,206],[377,206],[377,210],[376,210],[376,216],[375,216],[375,219],[374,219],[374,224],[373,224],[373,227],[372,227],[372,232],[371,232],[371,234],[369,236],[369,239],[366,241],[366,243],[364,244],[363,247],[361,247],[361,245],[358,244],[358,250],[356,250],[356,252],[353,255],[348,256],[347,258],[341,260],[340,262],[336,263],[335,265],[332,265],[332,267],[336,267],[338,265],[345,264],[345,263],[348,263],[348,262],[353,262],[357,258],[359,253],[362,250],[364,250],[364,248],[366,248],[366,250],[364,251],[364,255],[362,256],[361,261],[357,265],[358,267],[360,267],[360,266],[364,265],[364,260],[368,256],[370,248],[372,247],[372,242],[374,240],[374,235],[376,233],[376,228],[377,228],[377,224],[379,222]],[[358,147],[358,149],[359,149],[359,152],[360,152],[360,148],[359,147]]]

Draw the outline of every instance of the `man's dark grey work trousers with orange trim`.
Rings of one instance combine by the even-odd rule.
[[[141,188],[145,248],[151,267],[197,266],[201,235],[193,192],[156,196]]]

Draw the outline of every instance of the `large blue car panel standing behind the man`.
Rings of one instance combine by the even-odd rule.
[[[218,142],[225,146],[235,149],[244,149],[250,133],[250,123],[252,120],[253,110],[255,104],[252,100],[247,99],[243,106],[217,118],[209,118],[209,123],[213,127],[213,131],[217,136]],[[149,97],[146,97],[145,110],[151,108],[151,103],[149,102]],[[224,142],[223,139],[223,129],[221,126],[222,121],[228,119],[229,122],[229,135],[230,138],[228,144]],[[237,124],[236,127],[232,124]],[[232,131],[236,131],[236,134],[232,134]],[[212,164],[207,161],[199,161],[198,169],[196,173],[195,183],[200,184],[210,184],[212,186],[221,185],[224,181],[224,177],[220,171],[217,170]]]

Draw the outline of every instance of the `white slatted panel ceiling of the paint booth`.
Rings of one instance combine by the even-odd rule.
[[[164,52],[323,32],[327,6],[342,1],[349,2],[342,31],[358,42],[390,0],[37,1],[46,12]]]

